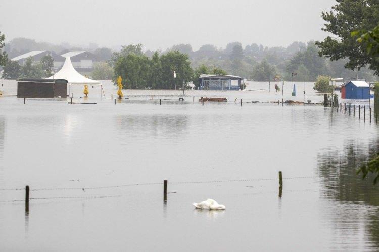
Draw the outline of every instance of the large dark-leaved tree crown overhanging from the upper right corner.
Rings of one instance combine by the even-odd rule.
[[[345,67],[351,70],[369,64],[369,68],[378,75],[379,59],[367,57],[368,48],[364,44],[357,43],[351,33],[372,30],[379,23],[379,2],[376,0],[336,0],[336,2],[331,11],[322,12],[322,18],[326,21],[322,30],[334,34],[335,37],[327,36],[323,41],[316,42],[321,48],[319,55],[332,61],[348,58]]]

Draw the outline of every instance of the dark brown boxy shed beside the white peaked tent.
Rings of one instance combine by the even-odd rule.
[[[18,79],[18,98],[66,98],[67,80],[47,80],[47,79]]]

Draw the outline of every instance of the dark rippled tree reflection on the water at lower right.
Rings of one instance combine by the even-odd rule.
[[[377,146],[376,140],[370,140],[368,145],[349,141],[342,151],[326,149],[318,155],[321,196],[335,201],[328,203],[328,211],[323,213],[328,219],[325,225],[336,230],[332,238],[335,242],[344,237],[357,237],[359,242],[359,236],[364,234],[366,246],[379,246],[379,190],[372,184],[374,176],[362,180],[356,175],[360,165],[375,154]]]

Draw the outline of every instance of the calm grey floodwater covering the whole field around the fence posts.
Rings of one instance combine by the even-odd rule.
[[[245,103],[281,100],[272,83],[186,91],[185,102],[181,91],[123,90],[130,99],[115,105],[109,81],[102,99],[97,86],[88,98],[70,87],[73,102],[97,104],[24,104],[15,81],[0,83],[0,189],[31,189],[28,213],[25,190],[0,190],[1,251],[378,249],[378,187],[355,175],[378,147],[367,108],[363,121],[320,105]],[[319,102],[312,86],[306,100]],[[291,91],[286,82],[285,100]],[[207,198],[226,210],[194,209]]]

